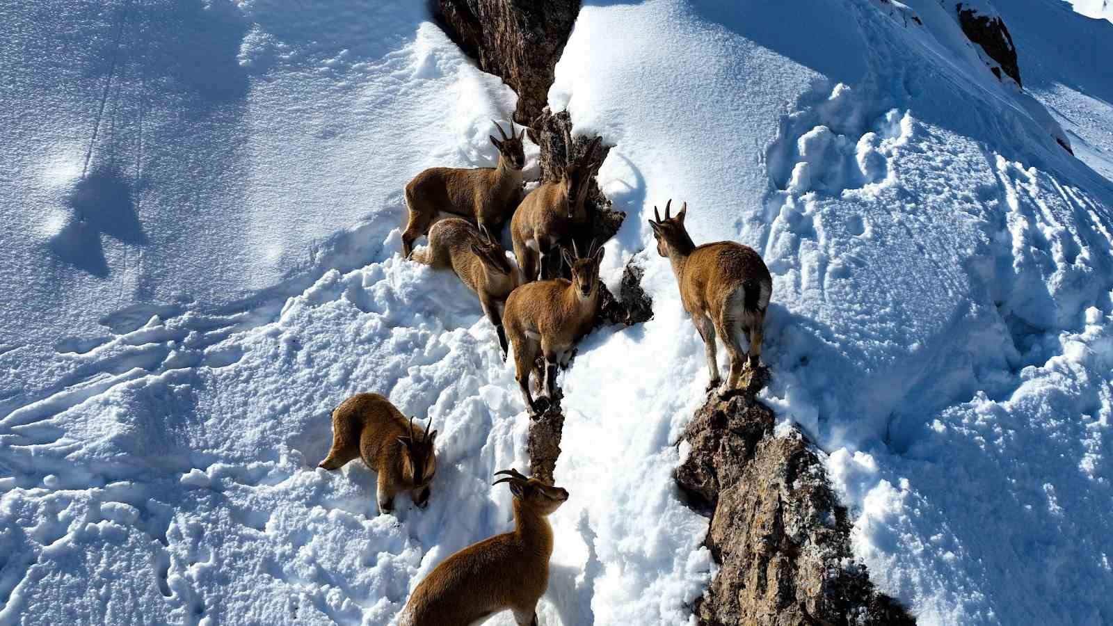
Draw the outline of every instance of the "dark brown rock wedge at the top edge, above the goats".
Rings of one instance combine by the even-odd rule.
[[[435,0],[433,7],[437,22],[480,69],[518,94],[514,121],[533,121],[545,106],[580,0]]]

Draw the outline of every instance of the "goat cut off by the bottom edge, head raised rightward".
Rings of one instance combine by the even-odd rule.
[[[402,626],[465,626],[510,609],[520,626],[538,624],[538,600],[549,587],[553,531],[545,519],[568,491],[515,469],[494,483],[514,495],[514,530],[473,544],[429,573],[402,612]]]

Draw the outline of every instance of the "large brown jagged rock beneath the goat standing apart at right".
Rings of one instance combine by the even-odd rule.
[[[915,624],[851,560],[847,511],[810,442],[772,428],[772,411],[745,393],[712,397],[684,433],[677,482],[711,515],[705,542],[721,565],[696,604],[700,623]]]

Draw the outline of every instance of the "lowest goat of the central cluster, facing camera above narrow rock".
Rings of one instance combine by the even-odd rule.
[[[552,398],[556,385],[556,363],[568,363],[572,348],[591,331],[599,306],[599,263],[602,246],[591,243],[588,256],[581,258],[572,243],[573,256],[561,250],[564,262],[572,267],[572,280],[553,278],[524,284],[506,299],[502,313],[506,335],[514,344],[515,378],[531,414],[538,405],[530,393],[530,372],[538,351],[545,358],[544,394]]]

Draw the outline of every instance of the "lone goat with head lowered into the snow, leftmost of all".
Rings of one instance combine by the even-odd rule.
[[[378,512],[394,510],[400,491],[410,491],[414,503],[424,508],[436,475],[435,438],[435,430],[426,433],[413,418],[407,422],[386,398],[357,393],[333,411],[333,448],[317,467],[339,469],[361,457],[378,473]]]

